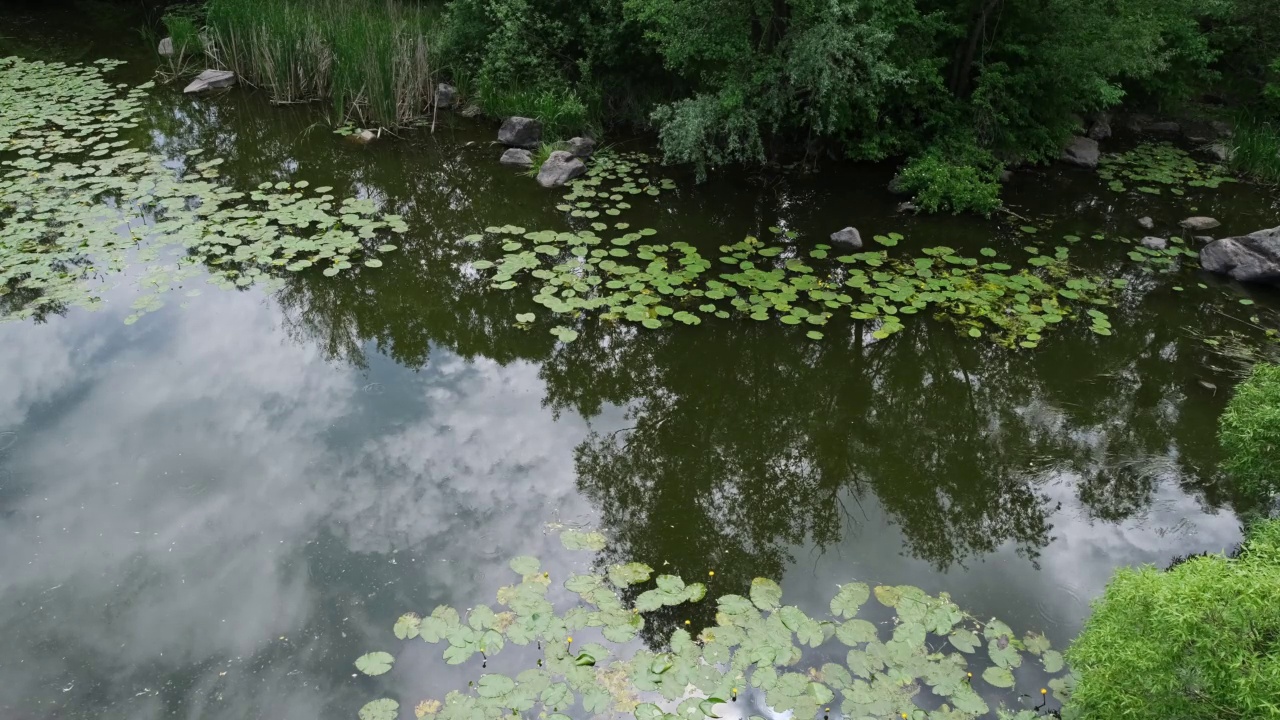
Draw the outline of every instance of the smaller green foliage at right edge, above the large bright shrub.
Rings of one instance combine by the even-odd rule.
[[[1226,470],[1245,492],[1280,493],[1280,365],[1254,366],[1235,388],[1219,438]]]

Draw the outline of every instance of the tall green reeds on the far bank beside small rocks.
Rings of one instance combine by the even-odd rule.
[[[216,59],[276,102],[328,99],[335,120],[408,126],[434,113],[439,13],[381,0],[209,0]]]

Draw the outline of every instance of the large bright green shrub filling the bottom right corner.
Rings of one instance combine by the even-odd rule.
[[[1236,560],[1119,570],[1066,656],[1082,720],[1280,717],[1280,521]]]

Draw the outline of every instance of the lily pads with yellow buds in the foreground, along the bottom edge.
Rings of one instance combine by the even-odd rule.
[[[846,720],[970,720],[991,714],[988,698],[998,698],[1002,719],[1032,720],[1050,710],[1048,688],[1062,703],[1074,687],[1044,635],[1019,638],[1000,620],[979,621],[946,593],[854,582],[840,587],[828,616],[812,618],[783,605],[777,583],[756,578],[748,597],[714,601],[713,625],[677,628],[664,647],[637,650],[631,641],[648,615],[704,602],[707,587],[620,564],[567,577],[572,606],[558,611],[549,598],[553,579],[536,559],[517,557],[511,569],[520,580],[498,591],[494,607],[440,606],[396,621],[397,638],[443,646],[444,662],[477,673],[466,689],[417,702],[419,719],[567,720],[581,706],[588,715],[705,720],[721,716],[718,706],[746,702],[797,720],[829,717],[837,708]],[[513,676],[490,670],[512,644],[535,646],[539,656]],[[394,662],[378,651],[357,659],[356,667],[381,675]],[[1047,688],[1018,694],[1014,670],[1024,662],[1052,676]],[[399,701],[380,698],[365,705],[360,719],[393,720],[398,710]]]

